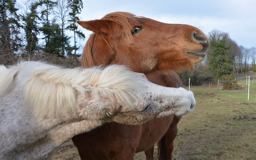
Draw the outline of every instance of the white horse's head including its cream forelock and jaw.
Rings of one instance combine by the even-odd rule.
[[[156,85],[124,66],[108,66],[91,80],[90,94],[78,94],[76,99],[79,115],[85,119],[142,124],[186,114],[196,104],[191,91]]]

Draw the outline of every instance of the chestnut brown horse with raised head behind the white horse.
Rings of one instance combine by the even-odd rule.
[[[84,48],[82,66],[124,64],[168,87],[182,86],[174,70],[192,68],[204,59],[210,45],[206,35],[193,26],[165,24],[127,12],[78,24],[94,32]],[[159,158],[171,160],[180,118],[168,116],[137,126],[111,122],[72,140],[82,160],[133,160],[142,151],[152,160],[154,144],[162,138]]]

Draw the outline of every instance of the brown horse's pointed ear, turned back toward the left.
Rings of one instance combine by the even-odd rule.
[[[94,33],[106,33],[110,31],[112,26],[112,21],[109,20],[89,20],[89,21],[76,21],[83,28],[90,30]]]

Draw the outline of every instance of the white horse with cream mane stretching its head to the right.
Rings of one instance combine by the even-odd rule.
[[[51,159],[66,140],[104,122],[142,124],[194,106],[192,92],[158,86],[124,66],[0,66],[0,159]]]

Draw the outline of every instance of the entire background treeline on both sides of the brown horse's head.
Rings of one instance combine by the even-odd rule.
[[[10,65],[22,58],[47,60],[54,64],[79,66],[84,34],[76,20],[82,0],[0,0],[0,64]],[[207,58],[193,70],[180,72],[185,85],[193,85],[224,75],[256,71],[256,48],[236,44],[228,33],[208,33]]]

